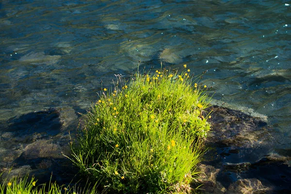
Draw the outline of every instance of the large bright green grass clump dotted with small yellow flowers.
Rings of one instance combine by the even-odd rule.
[[[113,192],[189,192],[200,140],[210,130],[207,87],[189,74],[161,69],[128,83],[117,76],[84,115],[85,127],[71,143],[74,164]]]

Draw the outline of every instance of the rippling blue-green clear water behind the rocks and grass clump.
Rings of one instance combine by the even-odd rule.
[[[84,112],[101,80],[110,86],[114,74],[130,77],[139,59],[147,69],[162,60],[208,70],[201,84],[213,87],[214,99],[267,116],[275,144],[264,153],[291,156],[289,4],[2,0],[0,121],[49,107]]]

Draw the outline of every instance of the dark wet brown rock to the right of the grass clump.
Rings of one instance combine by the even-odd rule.
[[[274,153],[267,121],[218,106],[210,109],[212,132],[199,166],[201,193],[290,193],[291,157]]]

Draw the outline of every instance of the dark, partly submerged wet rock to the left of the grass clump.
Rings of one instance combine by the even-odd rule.
[[[69,155],[68,132],[77,124],[72,108],[27,113],[1,123],[1,178],[29,174],[38,183],[49,182],[50,177],[61,185],[70,183],[78,169],[63,153]]]

